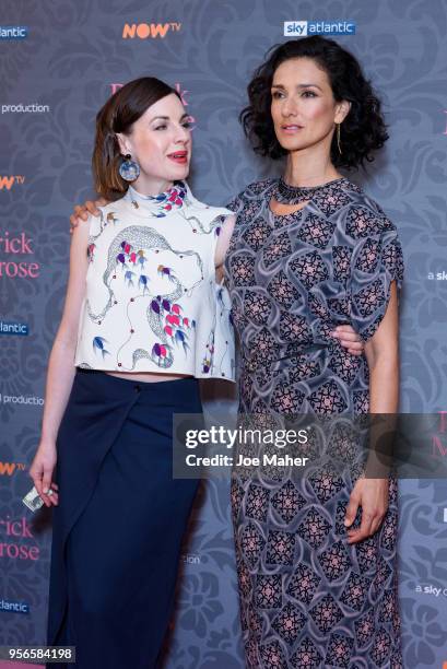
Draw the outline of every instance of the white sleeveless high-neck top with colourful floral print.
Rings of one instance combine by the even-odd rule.
[[[91,216],[74,364],[234,380],[230,297],[214,268],[228,215],[176,181],[156,198],[130,187]]]

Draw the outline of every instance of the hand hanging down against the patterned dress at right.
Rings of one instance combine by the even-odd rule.
[[[380,527],[388,508],[388,479],[358,479],[346,507],[344,525],[350,527],[362,507],[362,523],[348,530],[348,543],[357,543],[374,535]]]

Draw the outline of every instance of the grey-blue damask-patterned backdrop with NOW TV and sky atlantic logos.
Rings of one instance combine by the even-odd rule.
[[[284,24],[287,23],[285,27]],[[193,117],[191,185],[213,204],[273,173],[237,116],[269,47],[311,33],[351,49],[391,139],[353,180],[400,230],[402,411],[447,410],[447,5],[442,0],[2,0],[0,8],[0,644],[45,641],[50,518],[22,505],[69,257],[68,216],[93,195],[94,117],[153,74]],[[225,387],[204,389],[212,409]],[[443,423],[433,458],[447,458]],[[81,465],[80,465],[81,466]],[[405,667],[447,660],[447,485],[400,485]],[[107,560],[107,555],[104,555]],[[243,667],[227,482],[203,484],[183,555],[167,667]]]

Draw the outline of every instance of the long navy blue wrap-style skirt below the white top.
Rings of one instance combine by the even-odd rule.
[[[173,413],[201,411],[193,378],[77,372],[57,443],[48,644],[75,646],[79,669],[156,665],[198,488],[173,480]]]

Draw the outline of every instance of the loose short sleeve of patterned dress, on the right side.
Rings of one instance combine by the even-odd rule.
[[[367,215],[368,214],[368,215]],[[396,281],[403,280],[403,256],[396,226],[385,216],[362,208],[350,211],[346,232],[354,237],[351,256],[351,324],[363,341],[379,327]]]

